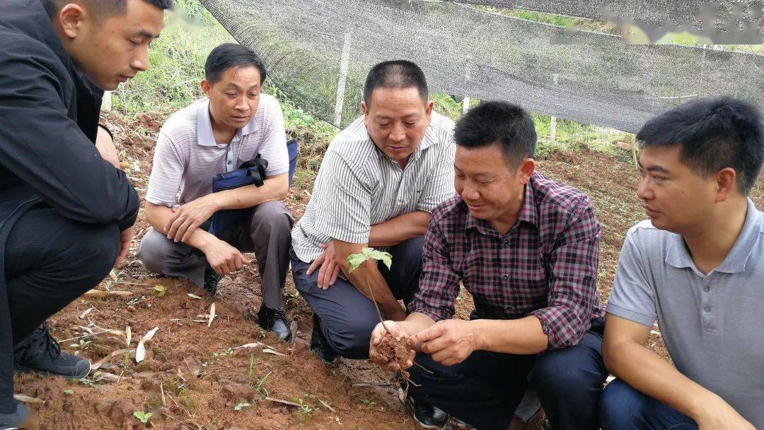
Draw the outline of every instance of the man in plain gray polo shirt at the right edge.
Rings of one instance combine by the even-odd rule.
[[[764,160],[753,104],[693,101],[637,135],[649,221],[630,229],[607,306],[609,429],[764,429]],[[644,346],[655,320],[672,366]]]

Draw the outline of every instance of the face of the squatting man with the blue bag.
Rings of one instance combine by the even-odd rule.
[[[212,85],[202,81],[213,127],[236,130],[247,125],[257,113],[261,89],[260,70],[254,66],[231,67]]]

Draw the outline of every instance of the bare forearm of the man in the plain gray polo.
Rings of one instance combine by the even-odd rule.
[[[689,416],[701,430],[755,430],[720,396],[646,348],[650,327],[607,314],[602,353],[607,370],[635,390]]]

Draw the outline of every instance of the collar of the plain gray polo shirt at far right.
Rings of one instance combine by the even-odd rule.
[[[730,253],[724,258],[721,264],[714,268],[714,271],[723,273],[740,273],[746,270],[748,260],[756,248],[759,236],[764,231],[764,220],[756,205],[751,199],[748,199],[746,212],[746,221],[743,223],[743,229],[740,230],[740,236],[737,236],[735,245],[730,249]],[[685,239],[681,235],[672,235],[672,241],[669,243],[669,249],[666,252],[665,262],[675,268],[694,268],[694,263],[688,252]]]

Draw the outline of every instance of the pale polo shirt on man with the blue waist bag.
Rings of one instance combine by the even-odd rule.
[[[212,177],[231,172],[257,154],[268,161],[267,176],[289,171],[286,130],[279,102],[260,95],[257,113],[231,143],[218,143],[209,118],[209,98],[177,111],[162,126],[146,201],[173,207],[212,193]],[[178,191],[180,190],[180,197]]]

